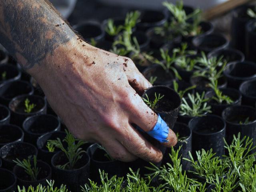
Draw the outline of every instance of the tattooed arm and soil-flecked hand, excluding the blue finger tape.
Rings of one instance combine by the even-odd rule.
[[[131,125],[152,130],[157,116],[136,93],[151,85],[129,58],[84,42],[44,0],[0,0],[0,43],[75,136],[100,142],[123,161],[161,160]],[[171,130],[169,140],[167,146],[176,143]]]

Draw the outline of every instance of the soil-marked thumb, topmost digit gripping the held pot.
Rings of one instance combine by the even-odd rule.
[[[128,78],[130,86],[140,95],[144,90],[152,87],[152,84],[139,72],[134,62],[130,58],[124,57],[123,69]]]

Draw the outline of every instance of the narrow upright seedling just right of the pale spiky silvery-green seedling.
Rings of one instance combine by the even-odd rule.
[[[234,102],[229,96],[222,94],[222,91],[218,89],[218,80],[211,80],[210,87],[215,92],[215,96],[211,98],[212,100],[215,100],[219,104],[222,104],[223,102],[226,102],[226,104],[231,104]]]

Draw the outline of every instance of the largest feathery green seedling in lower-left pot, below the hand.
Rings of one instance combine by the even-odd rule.
[[[64,170],[72,170],[76,165],[76,162],[82,158],[82,154],[85,153],[81,146],[86,142],[74,138],[74,136],[67,130],[65,130],[65,132],[66,137],[64,138],[63,142],[66,142],[68,146],[67,148],[64,148],[60,138],[57,138],[57,140],[48,140],[48,142],[50,145],[62,150],[68,158],[68,162],[64,165],[58,165],[58,168]]]

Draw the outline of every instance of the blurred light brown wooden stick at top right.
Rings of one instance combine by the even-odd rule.
[[[251,2],[252,0],[228,0],[222,4],[214,6],[204,12],[204,19],[210,20],[232,10],[233,8]]]

